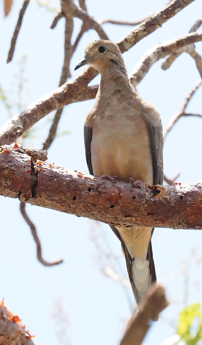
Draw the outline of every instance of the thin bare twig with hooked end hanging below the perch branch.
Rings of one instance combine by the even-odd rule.
[[[36,227],[35,225],[32,223],[32,221],[30,220],[30,218],[28,217],[28,215],[26,214],[26,211],[25,211],[25,204],[20,203],[20,212],[22,214],[22,217],[24,218],[24,220],[26,221],[26,223],[29,225],[30,229],[31,229],[31,233],[32,233],[32,236],[33,236],[33,239],[36,243],[36,247],[37,247],[37,258],[39,260],[39,262],[44,265],[44,266],[54,266],[54,265],[59,265],[63,262],[63,260],[58,260],[58,261],[54,261],[54,262],[47,262],[45,261],[43,258],[42,258],[42,254],[41,254],[41,244],[40,244],[40,240],[39,240],[39,237],[37,235],[37,232],[36,232]]]

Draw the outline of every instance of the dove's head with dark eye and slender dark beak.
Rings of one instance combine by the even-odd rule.
[[[84,59],[74,70],[84,65],[92,66],[102,72],[103,69],[110,66],[116,69],[118,66],[124,65],[124,60],[119,47],[115,43],[97,40],[86,47]]]

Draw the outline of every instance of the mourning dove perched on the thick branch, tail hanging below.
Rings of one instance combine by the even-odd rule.
[[[95,176],[163,183],[163,136],[158,111],[132,86],[119,47],[97,40],[75,67],[89,65],[100,75],[95,103],[84,125],[86,161]],[[110,225],[121,242],[137,304],[156,281],[151,236],[154,228]]]

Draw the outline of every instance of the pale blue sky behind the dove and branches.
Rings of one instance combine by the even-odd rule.
[[[21,4],[22,1],[14,1],[6,19],[3,18],[1,8],[0,86],[10,102],[16,102],[19,61],[23,54],[27,55],[23,103],[28,105],[58,86],[63,61],[64,20],[51,30],[49,27],[54,13],[40,8],[32,1],[24,17],[13,61],[7,65],[7,52]],[[97,20],[138,20],[159,10],[163,4],[162,0],[128,0],[123,6],[120,0],[87,0],[89,13]],[[59,1],[50,1],[50,6],[59,8]],[[186,34],[196,20],[202,19],[201,16],[201,0],[195,0],[163,24],[162,28],[124,53],[128,72],[149,48],[163,40]],[[81,21],[76,19],[74,38],[80,25]],[[111,24],[105,24],[104,29],[115,42],[132,30],[131,27]],[[74,67],[83,58],[86,45],[97,38],[97,33],[92,30],[82,38],[71,61],[72,79],[81,72],[74,72]],[[196,43],[196,49],[202,54],[201,42]],[[151,68],[137,89],[145,100],[157,107],[163,127],[166,127],[170,117],[181,108],[185,97],[199,80],[199,73],[192,58],[185,53],[167,71],[161,70],[161,62]],[[98,78],[93,83],[98,82]],[[201,113],[201,92],[202,89],[195,94],[188,111]],[[87,171],[83,123],[92,104],[93,100],[65,108],[59,131],[70,131],[70,134],[54,141],[49,149],[49,162],[68,169]],[[8,119],[8,113],[1,103],[0,111],[0,125],[3,125]],[[12,115],[17,112],[15,107]],[[27,140],[25,145],[41,148],[48,126],[50,122],[46,118],[40,121],[35,126],[35,137]],[[164,146],[164,170],[168,177],[172,178],[180,172],[178,182],[181,183],[201,178],[201,126],[200,118],[183,118],[168,135]],[[31,334],[35,334],[35,343],[59,344],[56,332],[60,326],[55,325],[56,320],[52,314],[55,313],[55,302],[61,300],[64,313],[70,321],[67,329],[65,324],[62,327],[71,344],[118,344],[130,315],[130,304],[134,305],[134,301],[130,288],[126,289],[125,294],[120,283],[103,273],[103,268],[107,266],[118,266],[118,272],[127,278],[120,243],[109,227],[87,218],[27,205],[29,215],[38,228],[44,258],[50,261],[64,259],[60,266],[44,267],[36,260],[35,244],[19,213],[19,201],[1,197],[0,203],[0,299],[4,297],[11,311],[22,318],[22,323]],[[93,234],[97,245],[92,239]],[[145,340],[148,344],[156,345],[174,334],[173,325],[176,325],[178,313],[185,305],[182,301],[187,291],[188,303],[202,303],[201,266],[191,265],[187,275],[182,273],[185,264],[191,264],[196,254],[200,256],[201,232],[156,229],[152,244],[157,278],[166,287],[171,302]],[[113,255],[104,256],[104,251],[113,253],[115,258]],[[185,284],[186,281],[188,283]]]

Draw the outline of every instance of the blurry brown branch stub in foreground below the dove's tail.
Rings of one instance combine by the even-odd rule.
[[[153,285],[143,300],[139,312],[131,316],[120,345],[140,345],[151,326],[151,320],[158,320],[159,313],[168,306],[165,290]]]

